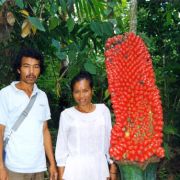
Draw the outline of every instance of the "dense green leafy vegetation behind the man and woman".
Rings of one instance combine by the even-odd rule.
[[[38,85],[49,97],[53,132],[60,111],[73,104],[69,82],[81,69],[94,76],[94,101],[110,106],[104,43],[108,37],[129,31],[130,3],[126,0],[0,0],[0,88],[14,79],[12,57],[20,47],[31,46],[46,58],[46,73]],[[180,3],[139,0],[137,20],[137,34],[151,53],[164,109],[166,158],[159,166],[158,177],[178,179]]]

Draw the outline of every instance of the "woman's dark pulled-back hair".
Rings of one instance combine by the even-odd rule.
[[[83,79],[86,79],[87,81],[89,81],[89,85],[90,85],[91,89],[93,89],[92,75],[87,71],[80,71],[80,73],[78,73],[76,76],[74,76],[71,81],[71,92],[73,92],[74,85]]]

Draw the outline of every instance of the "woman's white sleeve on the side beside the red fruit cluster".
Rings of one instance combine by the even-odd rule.
[[[109,109],[105,106],[105,126],[106,126],[106,133],[105,133],[105,153],[107,157],[107,161],[109,164],[112,164],[113,161],[110,159],[109,155],[109,148],[110,148],[110,138],[111,138],[111,129],[112,129],[112,123],[111,123],[111,113]]]

